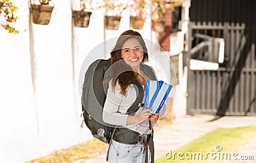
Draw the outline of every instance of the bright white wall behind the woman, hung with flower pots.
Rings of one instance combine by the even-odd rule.
[[[86,55],[104,39],[130,29],[129,11],[125,11],[118,31],[104,31],[104,8],[93,11],[88,28],[72,27],[68,0],[54,1],[56,8],[49,25],[32,23],[29,29],[28,1],[13,2],[19,7],[16,26],[20,34],[8,34],[0,28],[0,162],[28,161],[92,139],[85,125],[80,128],[81,66]],[[157,43],[150,20],[137,31]],[[148,48],[161,66],[169,66],[159,59],[163,53],[150,44]],[[151,65],[161,70],[155,62]],[[166,74],[157,75],[168,81],[170,72],[164,71]]]

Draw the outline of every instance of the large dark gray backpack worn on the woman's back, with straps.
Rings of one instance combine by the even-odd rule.
[[[102,120],[102,111],[106,100],[105,92],[108,90],[108,82],[104,81],[104,75],[109,65],[110,59],[98,59],[90,64],[84,76],[83,93],[81,97],[81,117],[83,117],[83,122],[85,122],[86,126],[92,131],[92,135],[104,143],[109,143],[113,129],[116,127],[106,124]],[[152,80],[156,80],[152,68],[144,64],[143,68],[145,68],[145,72],[148,73],[148,76],[153,76]],[[135,84],[138,87],[138,98],[127,111],[129,114],[135,113],[139,109],[141,101],[143,101],[143,87],[138,81],[136,81]],[[81,127],[83,127],[83,122]]]

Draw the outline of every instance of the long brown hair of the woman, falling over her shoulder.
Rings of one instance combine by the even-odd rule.
[[[136,31],[128,30],[123,32],[116,41],[116,45],[114,46],[113,50],[111,51],[111,61],[110,65],[113,67],[111,69],[111,78],[112,86],[115,88],[116,82],[121,87],[120,93],[125,96],[127,87],[131,84],[135,83],[136,76],[132,71],[131,66],[124,62],[124,59],[121,57],[121,50],[124,43],[131,39],[135,38],[139,41],[140,45],[143,48],[143,59],[142,62],[148,61],[148,52],[145,41],[141,37],[141,34]]]

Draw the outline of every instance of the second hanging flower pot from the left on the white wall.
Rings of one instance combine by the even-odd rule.
[[[88,27],[90,23],[90,17],[92,12],[90,11],[73,11],[73,17],[76,27]]]

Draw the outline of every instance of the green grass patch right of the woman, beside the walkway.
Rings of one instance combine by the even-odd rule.
[[[187,145],[180,147],[177,150],[172,151],[172,157],[170,155],[166,155],[156,160],[156,163],[167,163],[167,162],[221,162],[228,158],[228,153],[232,155],[234,152],[239,152],[241,148],[246,145],[250,141],[250,139],[255,138],[256,136],[256,126],[250,127],[237,127],[231,129],[216,129],[211,131],[204,136],[195,139],[195,141],[191,141]],[[216,151],[216,146],[221,146],[223,150],[220,152]],[[184,158],[184,160],[179,159],[177,153],[180,153],[180,158]],[[207,155],[207,152],[216,152],[216,154],[212,155],[212,158],[216,157],[216,159],[211,159],[211,153]],[[169,152],[171,153],[171,152]],[[174,155],[173,159],[173,153]],[[183,153],[183,155],[181,155]],[[191,153],[191,157],[189,155]],[[202,153],[203,157],[199,157],[198,153]],[[227,155],[225,155],[227,153]],[[194,157],[194,154],[196,157]],[[220,159],[219,158],[220,154]],[[207,155],[207,157],[205,157]],[[168,159],[166,159],[166,157]],[[191,159],[186,159],[186,157]],[[194,159],[196,158],[196,159]],[[203,159],[201,159],[203,158]],[[204,159],[205,158],[205,159]],[[206,159],[208,158],[208,159]],[[221,159],[224,158],[224,159]],[[231,157],[232,159],[232,157]]]

